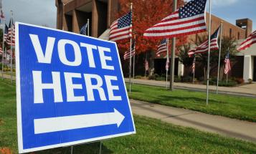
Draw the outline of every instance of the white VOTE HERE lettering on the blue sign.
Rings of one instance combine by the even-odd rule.
[[[29,34],[29,37],[32,41],[34,51],[37,55],[37,60],[39,63],[51,64],[52,61],[52,52],[54,49],[55,38],[48,37],[46,47],[42,48],[40,44],[38,35]],[[75,59],[70,61],[67,58],[65,46],[71,45],[73,50],[69,52],[74,52]],[[43,52],[42,49],[45,49]],[[112,61],[112,57],[106,56],[105,52],[111,52],[109,48],[95,46],[93,44],[85,44],[80,42],[80,45],[76,42],[68,39],[60,39],[57,42],[57,52],[60,57],[60,62],[67,66],[78,67],[82,64],[82,54],[81,49],[87,52],[88,66],[95,68],[95,57],[93,52],[97,51],[100,58],[100,66],[102,69],[114,70],[115,68],[111,65],[108,65],[108,61]],[[84,51],[82,51],[84,52]],[[119,90],[119,87],[112,85],[112,81],[117,81],[116,76],[105,75],[104,78],[100,77],[98,74],[80,74],[75,72],[52,72],[52,83],[43,83],[42,82],[42,71],[33,71],[33,82],[34,82],[34,103],[44,103],[44,90],[53,90],[54,92],[54,102],[64,102],[62,97],[62,88],[60,81],[60,73],[64,74],[65,77],[65,92],[67,95],[67,102],[83,102],[83,101],[95,101],[94,92],[97,91],[100,100],[122,100],[122,97],[115,96],[114,90]],[[47,74],[49,75],[49,74]],[[81,84],[74,84],[73,79],[82,79]],[[92,80],[96,80],[96,84],[93,85]],[[107,86],[107,91],[103,90],[103,82]],[[85,85],[86,94],[75,96],[74,90],[82,90],[82,84]]]

